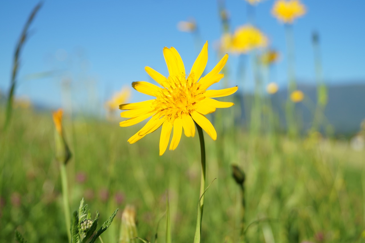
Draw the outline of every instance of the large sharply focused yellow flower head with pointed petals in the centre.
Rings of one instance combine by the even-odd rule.
[[[169,71],[168,77],[151,67],[145,67],[149,76],[162,87],[144,81],[132,83],[133,88],[138,92],[154,96],[155,99],[119,106],[119,109],[129,110],[120,113],[120,116],[130,118],[120,122],[121,127],[132,126],[152,116],[141,130],[128,139],[129,143],[137,142],[162,126],[160,155],[164,154],[168,146],[172,129],[170,150],[174,150],[180,142],[183,128],[185,136],[193,137],[195,135],[194,121],[213,140],[216,140],[217,133],[204,115],[214,112],[216,108],[234,105],[231,102],[217,101],[212,98],[231,95],[238,89],[235,86],[228,89],[207,90],[209,86],[223,78],[223,74],[219,72],[228,59],[228,54],[224,55],[211,72],[200,78],[208,61],[208,42],[203,46],[189,74],[185,73],[183,60],[174,47],[164,47],[163,53]]]

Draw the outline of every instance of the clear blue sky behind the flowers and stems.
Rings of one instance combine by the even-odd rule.
[[[315,80],[311,33],[320,34],[323,76],[330,84],[365,80],[365,24],[363,0],[302,1],[308,12],[295,21],[295,70],[298,80]],[[8,92],[14,49],[31,9],[38,1],[5,0],[0,3],[0,90]],[[274,67],[272,81],[285,86],[287,62],[285,31],[270,13],[273,0],[255,7],[255,24],[281,53]],[[231,30],[245,24],[246,2],[226,0]],[[215,0],[135,0],[135,1],[45,1],[31,25],[32,35],[21,55],[19,85],[16,96],[52,108],[64,106],[70,97],[75,107],[98,111],[113,92],[133,81],[150,81],[145,66],[167,76],[162,48],[175,47],[187,70],[197,51],[193,36],[180,32],[176,25],[194,17],[199,26],[201,47],[209,43],[207,69],[219,58],[213,48],[222,34]],[[200,48],[201,48],[200,47]],[[230,55],[234,73],[238,57]],[[249,68],[248,68],[249,70]],[[32,74],[57,71],[37,78]],[[248,71],[249,72],[249,71]],[[234,77],[234,76],[233,76]],[[70,80],[71,93],[61,87]],[[231,85],[239,84],[232,78]],[[247,85],[252,87],[250,74]],[[62,91],[63,90],[63,91]],[[131,101],[146,99],[134,90]]]

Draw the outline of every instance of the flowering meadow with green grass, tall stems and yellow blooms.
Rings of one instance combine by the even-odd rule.
[[[307,9],[298,0],[277,0],[271,12],[287,48],[287,90],[277,99],[273,66],[281,54],[254,24],[259,2],[246,0],[248,23],[232,32],[218,1],[213,69],[205,69],[208,41],[197,23],[181,21],[178,30],[201,50],[190,72],[174,47],[164,47],[169,74],[145,67],[159,86],[132,80],[133,92],[153,99],[130,104],[134,94],[122,89],[101,104],[88,94],[95,102],[84,105],[96,104],[95,113],[72,110],[72,86],[64,85],[71,79],[59,87],[65,111],[16,97],[36,5],[16,45],[9,93],[0,93],[0,242],[364,242],[365,121],[340,134],[327,119],[318,32],[311,38],[315,100],[299,89],[293,23]],[[33,76],[47,75],[55,74]],[[210,89],[219,81],[223,89]],[[92,219],[99,214],[98,231]]]

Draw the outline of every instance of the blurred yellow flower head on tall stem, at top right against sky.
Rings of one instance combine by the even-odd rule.
[[[293,23],[305,13],[306,7],[299,0],[277,0],[272,9],[272,14],[284,23]]]

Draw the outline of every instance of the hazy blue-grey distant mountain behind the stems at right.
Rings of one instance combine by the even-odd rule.
[[[301,127],[304,131],[312,126],[314,109],[317,103],[317,88],[315,85],[306,85],[304,82],[298,84],[309,102],[297,103],[297,114],[301,116],[303,124]],[[328,104],[324,111],[329,124],[331,124],[336,134],[353,134],[360,129],[360,123],[365,119],[365,81],[347,82],[341,85],[327,86]],[[279,90],[276,94],[271,95],[271,102],[274,111],[279,114],[280,125],[285,129],[285,102],[287,101],[288,92],[285,89]],[[240,97],[242,100],[242,97]],[[253,95],[245,95],[247,103],[253,101]],[[243,107],[243,106],[242,106]],[[250,105],[248,105],[250,107]],[[313,109],[313,111],[311,110]],[[244,108],[242,114],[245,114]],[[243,122],[246,117],[242,116]]]

